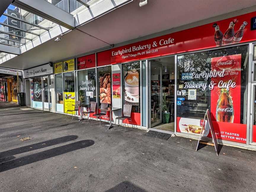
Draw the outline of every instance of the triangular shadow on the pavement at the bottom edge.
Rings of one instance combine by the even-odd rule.
[[[144,189],[138,187],[137,185],[132,184],[129,181],[124,181],[122,183],[119,183],[118,185],[114,186],[111,189],[108,189],[105,192],[147,192]]]

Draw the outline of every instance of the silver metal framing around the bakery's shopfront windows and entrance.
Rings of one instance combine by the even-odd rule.
[[[180,133],[180,132],[177,132],[177,114],[176,114],[176,112],[177,112],[177,90],[179,89],[179,87],[177,87],[178,86],[178,84],[177,84],[177,76],[178,76],[178,74],[177,74],[177,60],[178,60],[178,57],[180,56],[180,55],[186,55],[186,54],[191,54],[191,53],[200,53],[200,52],[205,52],[205,51],[213,51],[213,50],[216,50],[216,49],[226,49],[226,48],[228,48],[228,47],[239,47],[239,46],[243,46],[243,45],[249,45],[249,54],[248,54],[248,67],[249,67],[249,65],[250,65],[250,63],[252,63],[251,61],[252,61],[252,56],[251,56],[251,54],[250,53],[252,53],[252,44],[238,44],[238,45],[233,45],[233,46],[225,46],[225,47],[216,47],[216,48],[212,48],[212,49],[202,49],[202,50],[200,50],[200,51],[196,51],[196,52],[185,52],[185,53],[183,53],[183,54],[175,54],[175,55],[166,55],[166,56],[164,56],[164,57],[175,57],[175,105],[174,105],[174,110],[175,110],[175,130],[174,130],[174,133],[175,134],[177,134],[177,135],[184,135],[184,136],[188,136],[188,137],[194,137],[194,138],[197,138],[197,136],[196,135],[190,135],[189,133]],[[97,53],[96,53],[97,54]],[[126,64],[129,64],[129,63],[134,63],[134,62],[138,62],[138,63],[140,63],[140,72],[141,72],[141,74],[140,74],[140,92],[141,93],[143,93],[143,94],[140,94],[140,99],[139,99],[139,101],[140,101],[140,105],[141,105],[141,107],[140,107],[140,123],[138,123],[137,124],[137,127],[141,127],[141,128],[146,128],[146,129],[149,129],[149,123],[148,123],[148,119],[149,119],[149,113],[148,113],[148,110],[149,110],[149,102],[148,102],[148,98],[149,98],[149,94],[148,94],[148,87],[147,86],[145,86],[145,82],[144,82],[144,80],[146,81],[146,82],[148,82],[148,70],[149,70],[149,68],[148,68],[148,63],[149,63],[149,61],[150,60],[152,60],[152,59],[158,59],[158,58],[164,58],[164,57],[154,57],[154,58],[150,58],[150,59],[146,59],[146,60],[138,60],[138,61],[133,61],[133,62],[125,62],[125,63],[119,63],[119,64],[116,64],[116,65],[120,65],[120,77],[121,77],[121,89],[123,89],[124,88],[124,68],[123,68],[123,66],[124,65],[126,65]],[[74,74],[75,74],[75,81],[76,81],[76,85],[75,85],[75,88],[76,88],[76,100],[79,100],[79,83],[78,83],[78,78],[79,78],[79,71],[84,71],[84,70],[95,70],[95,73],[96,73],[96,79],[98,79],[99,78],[99,70],[100,70],[100,68],[102,68],[102,67],[107,67],[107,66],[112,66],[112,71],[111,71],[111,74],[110,74],[110,76],[111,76],[111,102],[110,102],[110,106],[112,106],[113,105],[113,79],[112,79],[112,75],[113,75],[113,65],[101,65],[101,66],[97,66],[97,62],[96,62],[96,64],[95,64],[96,66],[95,67],[93,67],[93,68],[86,68],[86,69],[80,69],[80,70],[75,70],[75,71],[73,71],[74,72]],[[144,67],[143,67],[144,66]],[[250,71],[250,69],[247,69],[247,70],[249,70]],[[146,73],[146,74],[145,74]],[[62,73],[62,74],[64,74],[64,73]],[[249,76],[249,73],[246,75],[246,76]],[[247,83],[247,86],[249,86],[249,84],[250,84],[250,78],[248,77],[248,83]],[[97,102],[97,104],[100,104],[100,82],[98,82],[98,81],[96,81],[95,82],[95,85],[96,85],[96,93],[97,93],[97,97],[96,97],[96,102]],[[250,85],[251,86],[251,85]],[[146,91],[145,91],[146,90]],[[253,89],[252,88],[250,88],[250,87],[247,87],[247,93],[245,94],[245,97],[248,95],[248,98],[247,98],[247,100],[249,100],[249,99],[251,99],[251,90],[253,91]],[[144,94],[144,91],[146,92],[146,94]],[[188,94],[187,92],[186,92],[186,94]],[[94,94],[93,94],[94,95]],[[98,98],[99,97],[99,98]],[[121,108],[123,107],[122,105],[124,104],[124,97],[125,97],[125,93],[123,93],[123,91],[121,91]],[[146,98],[146,100],[145,100],[145,98]],[[142,105],[143,104],[143,105]],[[146,105],[145,105],[146,104]],[[145,107],[144,107],[144,105],[145,105]],[[245,103],[245,105],[247,105],[247,110],[246,110],[246,113],[244,114],[244,118],[245,118],[245,121],[246,122],[244,122],[244,124],[246,124],[246,126],[248,126],[248,127],[250,127],[251,126],[251,123],[249,124],[248,123],[248,121],[251,121],[251,119],[250,119],[250,117],[248,118],[248,110],[250,110],[251,109],[251,107],[248,107],[248,105],[251,105],[251,104],[248,104],[248,103]],[[99,106],[99,105],[98,105]],[[146,121],[145,121],[145,117],[146,117]],[[252,142],[252,139],[250,139],[251,138],[251,135],[252,135],[252,133],[249,133],[250,131],[251,131],[252,129],[249,129],[249,128],[246,128],[246,138],[247,138],[247,140],[246,140],[246,143],[245,144],[247,144],[247,145],[249,145],[249,144],[254,144],[253,142]],[[204,139],[208,139],[207,137],[204,137]],[[209,140],[209,139],[208,139]],[[241,145],[241,146],[244,146],[244,144],[243,143],[237,143],[237,142],[231,142],[231,141],[227,141],[227,140],[219,140],[220,142],[222,142],[222,143],[228,143],[228,144],[233,144],[233,145]]]

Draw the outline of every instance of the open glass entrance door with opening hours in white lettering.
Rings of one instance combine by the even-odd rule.
[[[161,65],[152,64],[150,62],[150,75],[149,75],[149,104],[150,104],[150,127],[154,127],[162,123],[162,82],[161,82]]]

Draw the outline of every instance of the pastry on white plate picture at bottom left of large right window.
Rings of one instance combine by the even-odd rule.
[[[210,127],[207,121],[205,121],[205,126],[202,127],[203,122],[203,119],[190,119],[181,117],[179,121],[180,132],[200,135],[202,130],[202,135],[207,136],[209,134]]]

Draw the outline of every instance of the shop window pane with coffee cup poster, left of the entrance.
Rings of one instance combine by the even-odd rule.
[[[123,103],[140,113],[140,62],[123,64]]]

